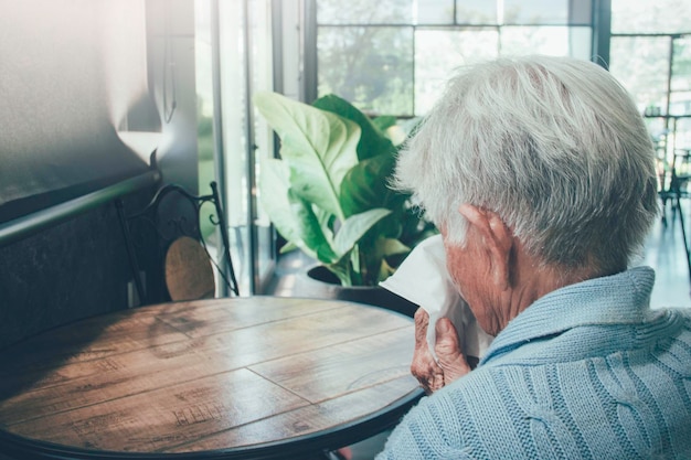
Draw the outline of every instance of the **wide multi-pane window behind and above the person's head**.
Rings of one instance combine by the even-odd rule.
[[[454,68],[507,54],[589,58],[597,0],[338,0],[316,10],[318,96],[360,109],[425,114]],[[308,92],[309,93],[309,92]]]

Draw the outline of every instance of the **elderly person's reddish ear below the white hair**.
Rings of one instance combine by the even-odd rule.
[[[501,217],[492,211],[482,210],[471,204],[461,204],[458,212],[482,236],[488,253],[492,281],[501,290],[510,287],[511,248],[513,234]]]

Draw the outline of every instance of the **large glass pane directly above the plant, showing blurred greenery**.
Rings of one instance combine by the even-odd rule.
[[[361,110],[413,115],[413,28],[319,28],[319,96]]]

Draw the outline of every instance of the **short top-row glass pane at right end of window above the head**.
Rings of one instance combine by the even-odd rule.
[[[504,24],[588,24],[591,1],[504,0]]]

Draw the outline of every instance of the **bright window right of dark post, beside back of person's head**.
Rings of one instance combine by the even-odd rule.
[[[674,0],[612,0],[610,72],[631,93],[662,164],[691,147],[691,9]]]

